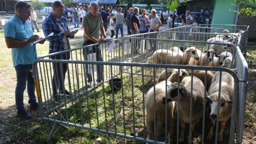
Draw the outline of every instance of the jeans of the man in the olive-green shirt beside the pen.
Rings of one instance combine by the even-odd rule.
[[[83,46],[94,44],[94,43],[95,42],[89,40],[87,42],[84,42]],[[100,49],[99,45],[93,46],[93,47],[87,47],[86,49],[83,49],[84,61],[88,61],[88,54],[95,53],[95,52],[96,52],[96,61],[103,61],[103,58],[101,55],[101,49]],[[102,72],[103,72],[103,66],[97,65],[97,82],[101,82],[102,77],[103,77]],[[86,74],[87,74],[88,82],[91,82],[93,79],[92,79],[92,75],[90,74],[90,71],[89,71],[89,66],[87,66],[87,68],[86,68]]]

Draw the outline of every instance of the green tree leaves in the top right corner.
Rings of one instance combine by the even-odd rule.
[[[234,1],[234,6],[237,6],[239,10],[231,10],[237,13],[238,15],[240,14],[246,14],[247,16],[256,16],[256,9],[253,9],[250,5],[251,4],[256,4],[256,0],[233,0]]]

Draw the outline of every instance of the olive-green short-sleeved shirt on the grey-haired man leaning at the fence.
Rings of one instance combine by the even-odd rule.
[[[101,14],[98,12],[95,17],[91,16],[91,13],[87,14],[86,16],[83,17],[82,25],[83,27],[88,27],[89,29],[89,34],[96,38],[99,39],[100,37],[100,26],[103,23]],[[88,41],[89,39],[86,37],[85,34],[83,34],[83,42]]]

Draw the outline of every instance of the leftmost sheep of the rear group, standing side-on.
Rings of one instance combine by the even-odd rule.
[[[170,50],[157,50],[152,55],[152,62],[154,64],[182,64],[183,52],[174,52]]]

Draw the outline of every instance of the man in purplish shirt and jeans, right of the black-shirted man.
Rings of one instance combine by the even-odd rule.
[[[142,15],[138,16],[138,19],[140,19],[140,33],[147,33],[148,32],[148,26],[150,26],[150,20],[148,16],[146,15],[146,9],[141,10]]]

